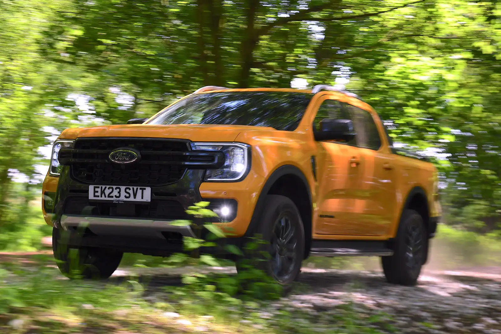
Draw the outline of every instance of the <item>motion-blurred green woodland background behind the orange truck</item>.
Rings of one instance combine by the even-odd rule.
[[[431,267],[499,265],[496,0],[1,1],[0,250],[51,234],[41,182],[65,128],[149,117],[205,85],[316,84],[360,95],[436,164]]]

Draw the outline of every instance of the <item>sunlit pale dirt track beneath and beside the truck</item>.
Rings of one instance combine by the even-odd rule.
[[[37,262],[35,257],[38,256],[41,255],[0,253],[0,261],[30,266]],[[189,270],[186,267],[119,268],[111,281],[120,282],[122,277],[132,274],[147,282],[146,298],[153,301],[161,298],[163,286],[181,284],[180,275]],[[205,271],[232,273],[234,268],[207,268]],[[274,314],[287,310],[309,314],[313,319],[328,319],[338,314],[341,305],[352,302],[359,315],[380,317],[381,320],[373,321],[373,326],[383,331],[391,325],[394,332],[402,333],[501,334],[500,267],[425,270],[414,287],[388,284],[377,270],[303,268],[300,283],[302,286],[287,298],[262,309],[263,317],[273,318]],[[307,321],[301,319],[298,321]],[[315,326],[314,321],[312,325]]]

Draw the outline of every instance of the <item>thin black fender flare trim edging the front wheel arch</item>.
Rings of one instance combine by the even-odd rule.
[[[296,166],[293,165],[284,165],[277,168],[265,182],[263,189],[261,189],[261,193],[259,194],[258,201],[256,202],[256,206],[254,208],[254,212],[252,218],[250,219],[249,225],[247,226],[247,230],[245,231],[244,238],[253,237],[256,231],[256,227],[259,224],[259,219],[261,218],[261,213],[265,207],[265,197],[275,184],[275,182],[284,175],[295,175],[299,177],[299,179],[304,183],[308,191],[308,198],[310,200],[310,205],[312,203],[312,194],[310,190],[310,183],[306,178],[305,174]],[[306,234],[305,234],[306,236]],[[311,238],[311,235],[309,236]]]

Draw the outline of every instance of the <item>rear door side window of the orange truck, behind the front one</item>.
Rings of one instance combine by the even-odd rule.
[[[353,115],[353,127],[357,133],[357,146],[378,150],[381,147],[381,138],[376,123],[372,115],[363,109],[352,105],[347,105],[350,109],[350,114]]]

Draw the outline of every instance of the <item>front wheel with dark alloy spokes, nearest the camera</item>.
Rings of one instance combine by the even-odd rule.
[[[288,197],[267,195],[256,234],[266,242],[262,254],[246,254],[286,288],[298,278],[305,249],[305,232],[298,208]],[[237,270],[243,266],[237,262]]]

